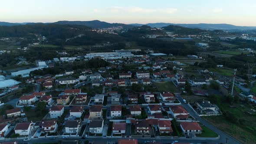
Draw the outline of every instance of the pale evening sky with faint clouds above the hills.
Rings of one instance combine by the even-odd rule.
[[[228,23],[256,26],[256,0],[1,0],[10,23],[101,20],[108,23]]]

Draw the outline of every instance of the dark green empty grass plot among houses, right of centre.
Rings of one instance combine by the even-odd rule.
[[[154,82],[153,85],[156,86],[160,92],[177,92],[177,88],[173,82]]]

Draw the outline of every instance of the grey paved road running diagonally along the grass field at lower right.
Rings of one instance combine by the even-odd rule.
[[[197,118],[200,123],[204,124],[207,128],[210,128],[212,131],[220,135],[220,142],[226,143],[226,138],[228,138],[228,143],[230,144],[241,144],[239,141],[234,139],[233,137],[229,136],[228,134],[224,133],[223,131],[220,131],[218,128],[216,128],[214,125],[210,124],[208,121],[205,121],[204,119],[200,118],[188,105],[187,103],[183,102],[183,98],[181,98],[181,95],[177,95],[177,98],[179,101],[181,101],[181,105],[190,113],[191,116],[194,118]]]

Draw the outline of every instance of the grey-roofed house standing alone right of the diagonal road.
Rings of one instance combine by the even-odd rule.
[[[210,101],[195,101],[197,105],[197,109],[200,113],[205,114],[214,114],[215,113],[215,106],[210,103]]]

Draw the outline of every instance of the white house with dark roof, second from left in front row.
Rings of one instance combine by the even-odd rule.
[[[30,135],[31,131],[34,129],[34,124],[32,122],[23,122],[16,124],[14,128],[15,134],[20,135]]]

